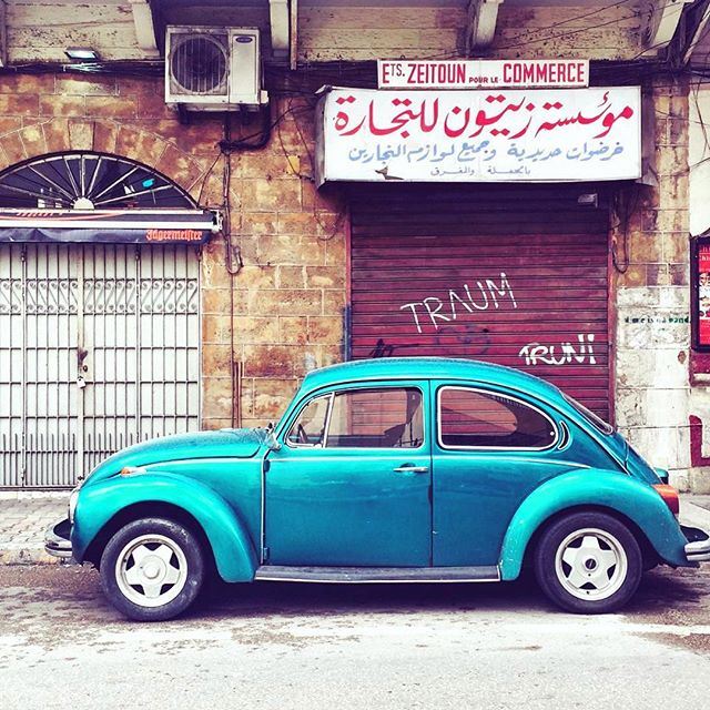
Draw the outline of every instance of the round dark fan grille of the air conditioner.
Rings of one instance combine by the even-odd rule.
[[[178,40],[170,62],[179,90],[194,95],[227,93],[229,47],[221,40],[209,34],[184,36]]]

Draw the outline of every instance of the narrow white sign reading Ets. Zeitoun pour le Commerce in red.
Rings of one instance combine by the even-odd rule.
[[[587,59],[377,60],[381,89],[491,89],[589,85]]]

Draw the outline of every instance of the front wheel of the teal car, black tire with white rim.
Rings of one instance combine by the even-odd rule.
[[[194,532],[173,520],[142,518],[111,537],[101,556],[109,601],[136,621],[164,621],[196,599],[205,576]]]

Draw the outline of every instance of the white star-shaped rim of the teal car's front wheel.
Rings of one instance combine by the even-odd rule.
[[[123,595],[140,607],[172,601],[187,580],[187,559],[170,538],[142,535],[131,540],[115,562],[115,579]]]

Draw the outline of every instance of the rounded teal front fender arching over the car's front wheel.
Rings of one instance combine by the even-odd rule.
[[[254,579],[258,566],[254,545],[233,508],[209,486],[168,471],[114,476],[84,486],[71,534],[74,558],[82,561],[91,542],[121,510],[145,503],[170,504],[189,513],[202,526],[225,581]]]

